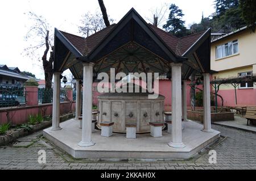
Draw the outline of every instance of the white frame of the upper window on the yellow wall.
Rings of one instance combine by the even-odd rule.
[[[237,52],[236,53],[234,53],[234,45],[235,44],[237,44]],[[231,45],[231,54],[226,55],[225,47],[228,47],[230,45]],[[221,50],[220,56],[218,56],[218,50]],[[218,46],[216,46],[216,50],[215,50],[216,59],[229,57],[229,56],[232,56],[233,54],[238,54],[238,52],[239,52],[238,40],[233,40],[233,41],[229,41],[228,43],[225,43],[225,44],[222,44],[222,45],[218,45]]]

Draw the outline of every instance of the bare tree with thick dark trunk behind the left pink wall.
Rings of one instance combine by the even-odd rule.
[[[43,18],[43,16],[38,16],[34,12],[28,12],[27,15],[28,19],[30,19],[32,23],[32,26],[29,28],[24,38],[26,41],[31,42],[31,44],[24,49],[24,52],[28,57],[31,57],[32,59],[36,57],[37,52],[42,52],[43,56],[41,59],[44,69],[44,78],[46,80],[46,89],[51,89],[53,75],[52,64],[54,58],[53,34],[50,35],[49,33],[51,26],[49,26],[47,20]],[[49,53],[50,48],[51,52]],[[48,53],[49,58],[47,58]],[[40,61],[39,57],[38,60]]]

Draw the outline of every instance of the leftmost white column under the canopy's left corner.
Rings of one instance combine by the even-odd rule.
[[[60,130],[60,72],[53,73],[52,128]]]

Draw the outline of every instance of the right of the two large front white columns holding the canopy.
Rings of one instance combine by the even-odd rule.
[[[171,64],[172,66],[172,140],[168,144],[173,148],[184,148],[182,142],[182,105],[181,105],[181,65]]]

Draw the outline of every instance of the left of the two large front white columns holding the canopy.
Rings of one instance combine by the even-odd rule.
[[[92,141],[92,84],[93,63],[83,64],[82,86],[82,141],[79,146],[88,147],[95,143]]]

